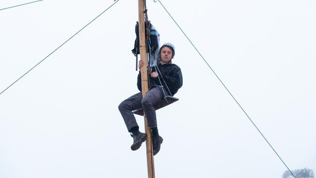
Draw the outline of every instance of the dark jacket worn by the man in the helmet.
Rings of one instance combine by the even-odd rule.
[[[161,77],[159,71],[157,71],[158,76],[159,76],[160,81],[161,81],[161,84],[163,85],[164,89],[168,93],[170,90],[171,95],[173,96],[174,94],[176,94],[178,89],[180,89],[182,87],[181,69],[176,64],[164,64],[164,65],[159,64],[158,69],[162,75],[162,77]],[[153,67],[152,72],[154,72],[154,71],[156,71],[156,70]],[[167,89],[166,84],[163,82],[163,80],[166,82],[169,90]],[[155,87],[159,87],[159,85],[160,85],[158,77],[156,77],[156,78],[150,77],[149,81],[150,81],[150,89],[155,88]],[[137,87],[141,91],[140,73],[138,74],[138,77],[137,77]],[[168,95],[170,95],[170,93]]]

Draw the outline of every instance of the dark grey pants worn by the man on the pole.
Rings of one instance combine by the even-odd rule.
[[[133,110],[143,108],[149,127],[157,127],[156,109],[154,105],[163,98],[162,88],[156,87],[148,91],[142,98],[141,92],[127,98],[119,105],[119,110],[124,119],[127,130],[138,127]]]

